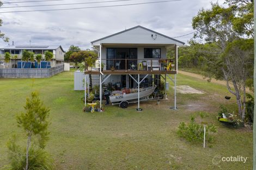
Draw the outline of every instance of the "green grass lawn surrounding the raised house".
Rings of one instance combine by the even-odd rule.
[[[51,108],[50,140],[47,151],[56,169],[252,169],[253,135],[249,128],[229,129],[216,120],[220,104],[235,109],[235,100],[227,101],[225,86],[178,74],[178,85],[203,90],[203,95],[178,93],[178,110],[173,106],[173,89],[169,100],[136,104],[127,109],[107,106],[105,112],[84,113],[83,91],[74,91],[74,73],[64,72],[44,79],[0,79],[0,167],[8,164],[6,143],[16,133],[25,143],[15,115],[24,111],[26,97],[34,90]],[[172,85],[172,83],[170,83]],[[212,147],[191,144],[179,138],[180,122],[207,111],[205,122],[218,128]],[[243,162],[212,163],[215,155],[248,157]]]

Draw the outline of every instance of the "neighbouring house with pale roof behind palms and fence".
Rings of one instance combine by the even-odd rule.
[[[42,54],[42,59],[44,60],[44,53],[46,51],[50,51],[53,53],[53,59],[51,61],[51,66],[56,66],[56,64],[62,64],[64,62],[64,54],[62,46],[59,45],[8,45],[0,48],[0,63],[4,64],[4,54],[9,52],[11,56],[17,55],[17,59],[11,59],[11,61],[7,64],[7,67],[13,67],[13,65],[17,65],[17,61],[20,61],[22,58],[23,51],[31,51],[35,55]]]

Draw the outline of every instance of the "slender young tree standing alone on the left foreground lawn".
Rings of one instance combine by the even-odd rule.
[[[28,170],[30,169],[29,166],[33,166],[29,164],[29,159],[35,156],[29,154],[33,153],[36,144],[39,151],[40,149],[44,149],[46,141],[48,140],[49,132],[47,131],[47,128],[49,122],[47,121],[47,118],[50,114],[50,109],[46,108],[46,106],[41,102],[37,92],[31,93],[31,96],[26,100],[24,108],[26,112],[22,112],[17,116],[17,123],[18,127],[23,128],[27,136],[26,166],[22,167],[22,169]],[[15,141],[10,141],[10,143],[13,143],[13,146],[15,146]],[[43,169],[48,168],[44,167]]]

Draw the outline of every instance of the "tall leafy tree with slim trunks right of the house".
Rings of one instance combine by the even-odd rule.
[[[236,2],[239,3],[238,0]],[[205,59],[208,61],[209,76],[227,81],[227,89],[236,96],[239,115],[244,120],[245,105],[242,103],[245,99],[243,97],[241,100],[241,93],[245,96],[245,91],[241,91],[241,88],[245,89],[249,77],[247,73],[251,68],[248,64],[252,64],[250,55],[253,46],[251,40],[242,38],[248,30],[237,28],[237,20],[243,18],[239,15],[239,11],[239,7],[234,7],[234,5],[229,4],[229,7],[224,8],[217,3],[212,4],[211,9],[202,9],[197,16],[193,17],[192,26],[193,29],[198,30],[194,37],[207,42],[208,46],[204,48],[204,53],[207,54]],[[244,22],[246,23],[249,22]],[[233,83],[235,91],[231,90],[229,81]]]

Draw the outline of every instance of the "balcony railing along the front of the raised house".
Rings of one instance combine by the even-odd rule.
[[[102,59],[103,70],[175,71],[175,62],[169,59]]]

